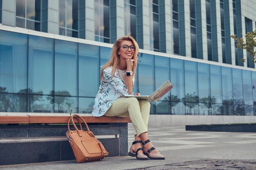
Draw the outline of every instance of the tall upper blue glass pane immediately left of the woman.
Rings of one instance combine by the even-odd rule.
[[[79,96],[95,97],[99,90],[99,46],[79,44]]]

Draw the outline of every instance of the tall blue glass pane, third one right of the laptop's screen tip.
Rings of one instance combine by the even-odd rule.
[[[211,102],[209,73],[209,64],[198,63],[198,97],[200,103]]]

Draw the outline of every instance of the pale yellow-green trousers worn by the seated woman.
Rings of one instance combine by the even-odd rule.
[[[137,100],[136,97],[117,98],[104,116],[130,117],[138,136],[148,132],[150,103],[146,100]]]

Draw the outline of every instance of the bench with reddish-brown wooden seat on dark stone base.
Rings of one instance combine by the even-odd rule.
[[[110,153],[108,157],[128,155],[129,117],[82,117]],[[0,154],[0,166],[75,159],[65,136],[67,125],[58,125],[67,124],[69,118],[0,116],[0,148],[4,153]]]

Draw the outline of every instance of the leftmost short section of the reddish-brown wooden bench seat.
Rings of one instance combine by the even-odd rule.
[[[0,116],[0,124],[29,124],[29,116]]]

